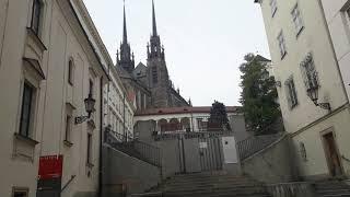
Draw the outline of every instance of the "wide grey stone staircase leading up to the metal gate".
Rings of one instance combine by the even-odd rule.
[[[162,197],[271,197],[266,187],[249,177],[221,172],[176,175],[149,194]]]

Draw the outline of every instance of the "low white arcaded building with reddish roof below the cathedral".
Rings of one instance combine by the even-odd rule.
[[[222,131],[224,129],[222,127],[210,126],[210,106],[150,108],[138,112],[135,115],[135,123],[138,125],[139,121],[155,121],[156,128],[154,128],[154,131],[159,135],[213,131],[215,129]],[[237,141],[253,135],[245,129],[244,114],[241,112],[241,107],[226,106],[226,113],[231,126],[230,131],[235,134]],[[136,134],[137,136],[138,134]]]

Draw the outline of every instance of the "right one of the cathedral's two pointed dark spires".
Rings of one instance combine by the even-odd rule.
[[[161,45],[161,38],[156,32],[156,20],[155,20],[155,9],[154,9],[154,0],[152,0],[152,35],[150,38],[150,43],[147,46],[148,48],[148,58],[161,58],[165,60],[164,47]]]

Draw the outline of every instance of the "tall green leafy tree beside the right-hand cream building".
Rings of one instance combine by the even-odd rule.
[[[247,128],[256,135],[276,132],[271,125],[281,116],[273,77],[269,77],[266,60],[261,56],[247,54],[240,67],[243,89],[240,102]]]

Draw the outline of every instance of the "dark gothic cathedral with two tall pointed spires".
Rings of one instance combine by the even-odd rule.
[[[135,67],[135,56],[128,43],[126,12],[124,8],[124,35],[117,53],[116,68],[128,96],[135,101],[138,111],[160,107],[190,106],[168,77],[164,46],[156,31],[154,3],[152,2],[152,35],[147,45],[147,65],[140,62]]]

